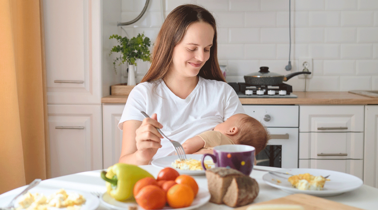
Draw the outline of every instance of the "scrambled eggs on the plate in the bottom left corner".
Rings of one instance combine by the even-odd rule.
[[[64,189],[60,189],[56,193],[46,197],[39,193],[27,192],[19,200],[20,207],[26,210],[49,210],[48,207],[63,208],[67,207],[69,210],[77,210],[84,204],[85,198],[79,193],[69,193]]]

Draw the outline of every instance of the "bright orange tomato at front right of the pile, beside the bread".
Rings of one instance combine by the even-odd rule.
[[[188,207],[194,200],[192,188],[185,184],[176,184],[167,191],[167,202],[172,208]]]

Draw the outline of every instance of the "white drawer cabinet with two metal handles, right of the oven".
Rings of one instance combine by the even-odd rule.
[[[364,106],[301,105],[299,167],[363,178]]]

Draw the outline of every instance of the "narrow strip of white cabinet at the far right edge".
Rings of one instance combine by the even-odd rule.
[[[364,184],[378,188],[378,105],[365,106]]]

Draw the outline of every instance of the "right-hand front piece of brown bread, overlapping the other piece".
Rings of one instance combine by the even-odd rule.
[[[253,202],[259,194],[259,185],[256,180],[249,176],[232,178],[223,202],[230,207],[239,207]]]

